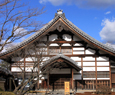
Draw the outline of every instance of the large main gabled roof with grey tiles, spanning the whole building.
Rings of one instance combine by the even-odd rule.
[[[62,19],[62,21],[69,26],[69,28],[73,31],[75,31],[76,35],[80,35],[81,37],[83,37],[86,41],[90,42],[90,44],[96,45],[99,49],[104,49],[106,52],[111,53],[112,55],[115,56],[115,50],[111,47],[108,47],[104,44],[102,44],[101,42],[95,40],[94,38],[92,38],[91,36],[89,36],[88,34],[86,34],[85,32],[83,32],[81,29],[79,29],[77,26],[75,26],[72,22],[70,22],[68,19],[66,19],[65,14],[55,14],[54,19],[52,19],[48,24],[46,24],[43,28],[41,28],[39,31],[37,31],[36,33],[34,33],[32,36],[30,36],[29,38],[27,38],[26,40],[24,40],[23,42],[21,42],[20,44],[18,44],[17,46],[7,50],[4,53],[0,54],[0,57],[12,53],[15,50],[18,50],[22,47],[25,47],[27,44],[33,42],[34,40],[38,39],[39,36],[41,34],[43,34],[45,31],[47,31],[57,20]]]

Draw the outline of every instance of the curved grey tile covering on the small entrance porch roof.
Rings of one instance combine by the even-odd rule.
[[[51,63],[51,62],[53,62],[53,61],[55,61],[56,59],[59,59],[59,58],[62,58],[62,59],[64,59],[64,60],[67,60],[67,61],[71,62],[71,63],[74,65],[74,67],[77,68],[78,71],[81,70],[81,68],[77,65],[77,62],[75,62],[74,60],[72,60],[71,58],[69,58],[69,57],[67,57],[67,56],[64,56],[63,54],[58,54],[58,55],[56,55],[56,56],[53,56],[53,57],[50,58],[49,60],[45,61],[45,62],[43,63],[43,66],[41,66],[41,69],[44,68],[44,67],[45,67],[46,65],[48,65],[49,63]]]

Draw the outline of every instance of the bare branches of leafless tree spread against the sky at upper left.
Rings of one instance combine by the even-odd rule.
[[[23,0],[0,0],[0,52],[5,46],[39,30],[43,25],[36,17],[43,14],[41,9],[30,8]]]

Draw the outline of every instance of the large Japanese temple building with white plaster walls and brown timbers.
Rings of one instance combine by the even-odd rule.
[[[65,81],[69,81],[70,89],[95,89],[97,84],[115,87],[115,50],[75,26],[62,10],[58,10],[38,32],[0,54],[0,59],[11,64],[11,72],[19,83],[22,71],[17,64],[21,63],[26,71],[26,80],[30,76],[33,59],[36,60],[36,52],[29,49],[31,55],[25,56],[24,50],[35,45],[36,49],[43,49],[43,60],[40,62],[42,58],[39,55],[40,64],[36,67],[39,73],[43,73],[36,89],[64,89]],[[23,53],[23,56],[15,53]]]

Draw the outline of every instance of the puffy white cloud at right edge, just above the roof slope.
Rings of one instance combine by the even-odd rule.
[[[112,20],[104,19],[101,25],[103,26],[100,31],[101,39],[105,42],[115,43],[115,18]]]

